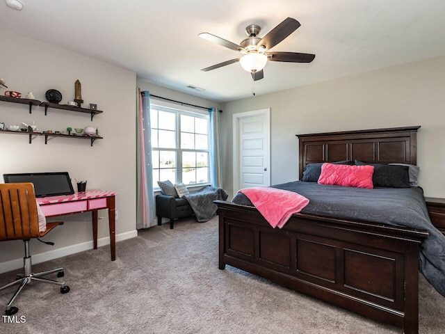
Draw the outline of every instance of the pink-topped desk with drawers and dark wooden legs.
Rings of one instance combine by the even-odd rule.
[[[110,228],[111,261],[116,260],[115,240],[115,195],[113,191],[87,190],[72,195],[37,198],[42,212],[47,217],[92,212],[92,237],[94,249],[97,249],[97,210],[108,209]]]

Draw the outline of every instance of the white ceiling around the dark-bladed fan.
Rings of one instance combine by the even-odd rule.
[[[445,55],[444,0],[19,0],[0,1],[0,29],[127,67],[138,78],[216,102],[252,96],[238,52],[198,38],[240,43],[286,17],[301,26],[272,51],[316,54],[312,63],[268,62],[256,95]],[[1,41],[0,41],[1,50]],[[1,52],[0,52],[1,59]],[[204,88],[200,92],[188,85]]]

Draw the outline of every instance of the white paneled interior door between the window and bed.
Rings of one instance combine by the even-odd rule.
[[[234,114],[234,193],[270,186],[270,109]]]

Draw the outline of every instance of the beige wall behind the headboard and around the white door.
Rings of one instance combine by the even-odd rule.
[[[296,134],[421,125],[419,181],[426,196],[445,197],[445,57],[224,104],[224,187],[230,193],[232,114],[268,107],[272,184],[298,179]]]

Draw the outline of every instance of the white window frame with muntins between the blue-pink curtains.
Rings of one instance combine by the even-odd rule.
[[[183,182],[183,180],[182,180],[182,173],[183,173],[183,169],[184,169],[184,166],[182,163],[183,152],[205,152],[205,153],[207,153],[207,180],[208,181],[201,182],[201,183],[195,183],[195,184],[186,184],[186,186],[187,186],[187,188],[191,188],[193,186],[207,186],[207,185],[211,184],[210,183],[210,168],[211,168],[211,166],[210,166],[210,135],[211,134],[210,134],[209,113],[203,113],[203,112],[199,112],[196,110],[190,110],[189,108],[186,110],[186,108],[182,108],[182,107],[181,107],[181,109],[179,109],[175,106],[167,106],[163,103],[156,103],[156,102],[151,103],[150,111],[165,111],[165,112],[175,114],[175,145],[176,145],[176,148],[162,148],[161,146],[159,146],[159,141],[158,141],[158,146],[156,146],[156,148],[152,147],[152,151],[158,151],[158,152],[170,151],[170,152],[175,153],[175,156],[176,156],[176,159],[175,159],[175,161],[176,161],[175,180],[170,180],[170,181],[172,181],[172,183],[174,183],[174,184]],[[207,121],[207,150],[196,149],[196,148],[194,148],[194,149],[181,148],[181,116],[183,116],[183,115],[191,116],[193,118],[202,118]],[[158,128],[159,120],[158,120],[158,124],[156,124],[155,128],[151,124],[151,120],[150,120],[150,126],[151,126],[152,131],[153,131],[153,129],[159,130],[159,128]],[[186,132],[186,133],[202,135],[199,132]],[[159,154],[159,156],[160,156],[160,154]],[[154,189],[154,191],[159,191],[160,190],[159,186],[155,185],[159,173],[155,177],[154,170],[161,170],[163,168],[161,168],[161,166],[159,166],[158,168],[153,168],[153,166],[154,165],[152,164],[153,178],[154,178],[153,189]],[[197,166],[195,166],[195,168],[196,167]],[[167,168],[165,168],[165,169],[167,169]],[[164,180],[159,180],[159,181],[164,181]]]

